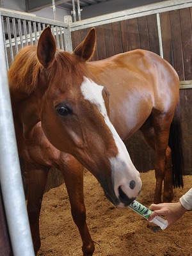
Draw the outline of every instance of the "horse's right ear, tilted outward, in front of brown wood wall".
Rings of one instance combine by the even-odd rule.
[[[96,43],[96,33],[95,28],[90,29],[86,38],[84,38],[83,42],[79,44],[74,50],[74,54],[79,56],[81,60],[87,61],[89,60],[94,51],[95,51],[95,43]]]

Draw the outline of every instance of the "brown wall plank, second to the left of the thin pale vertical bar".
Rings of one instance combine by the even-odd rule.
[[[138,18],[140,48],[149,51],[147,16]]]

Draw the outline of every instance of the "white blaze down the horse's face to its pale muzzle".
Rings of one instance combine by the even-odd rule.
[[[84,77],[84,81],[81,84],[81,92],[83,93],[84,99],[89,100],[97,106],[99,112],[104,116],[106,125],[108,125],[113,139],[115,140],[116,147],[118,148],[118,154],[116,157],[111,157],[109,159],[111,163],[111,173],[113,177],[113,186],[115,189],[115,194],[118,197],[118,187],[121,186],[124,193],[129,196],[129,198],[136,197],[138,192],[141,189],[140,174],[132,164],[127,148],[124,145],[124,142],[121,140],[120,136],[115,130],[113,124],[109,120],[109,116],[106,110],[104,99],[102,97],[102,90],[104,86],[96,84],[92,80]],[[129,182],[135,180],[136,187],[135,189],[129,188]],[[119,205],[121,206],[121,205]],[[122,206],[124,206],[122,204]]]

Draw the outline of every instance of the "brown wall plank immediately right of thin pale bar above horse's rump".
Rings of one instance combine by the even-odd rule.
[[[163,58],[173,66],[172,31],[170,12],[160,13]]]

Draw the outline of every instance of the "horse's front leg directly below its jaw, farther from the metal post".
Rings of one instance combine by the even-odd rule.
[[[83,241],[83,255],[92,256],[95,250],[95,245],[86,225],[86,209],[83,195],[83,166],[74,159],[74,157],[70,157],[71,158],[68,159],[69,161],[60,166],[60,170],[63,173],[63,178],[67,187],[72,218],[79,228],[79,233]]]

